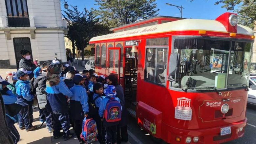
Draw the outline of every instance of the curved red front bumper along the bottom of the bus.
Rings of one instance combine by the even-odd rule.
[[[186,138],[191,137],[192,144],[218,144],[223,143],[227,141],[231,141],[234,139],[237,139],[239,137],[242,137],[245,133],[245,125],[247,122],[247,118],[245,117],[245,120],[231,123],[229,125],[224,126],[218,126],[214,128],[208,128],[208,129],[201,129],[201,130],[183,130],[178,129],[175,127],[171,127],[163,123],[163,131],[162,139],[168,143],[172,144],[181,144],[186,143]],[[231,128],[231,134],[228,135],[220,135],[221,128],[230,127]],[[243,128],[242,131],[239,131],[240,128]],[[241,129],[240,129],[241,130]],[[164,133],[167,132],[167,133]],[[195,136],[199,137],[198,142],[194,142],[193,139]],[[180,142],[178,142],[176,139],[180,138]]]

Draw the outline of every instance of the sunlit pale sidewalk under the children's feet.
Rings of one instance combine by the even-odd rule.
[[[33,125],[39,127],[41,123],[39,122],[39,111],[38,107],[33,109],[34,122]],[[20,134],[20,141],[18,144],[79,144],[76,136],[64,141],[62,137],[58,139],[53,139],[53,133],[48,133],[48,129],[45,128],[45,123],[39,129],[34,131],[26,132],[26,130],[20,130],[17,124],[14,124]],[[73,129],[70,129],[71,133],[74,133]]]

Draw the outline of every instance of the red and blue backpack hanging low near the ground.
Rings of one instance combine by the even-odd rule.
[[[97,131],[96,121],[93,120],[92,118],[85,117],[83,120],[83,127],[82,127],[82,133],[80,135],[80,138],[85,143],[90,143],[97,140],[96,138],[97,135],[98,135],[98,131]]]

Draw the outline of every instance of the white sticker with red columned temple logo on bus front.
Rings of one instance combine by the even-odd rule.
[[[178,98],[177,106],[175,107],[175,118],[182,120],[192,119],[192,109],[190,107],[191,99],[188,98]]]

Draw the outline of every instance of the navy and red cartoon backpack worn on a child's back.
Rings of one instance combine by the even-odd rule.
[[[121,120],[121,104],[114,98],[110,98],[106,104],[103,117],[107,122],[116,122]]]

